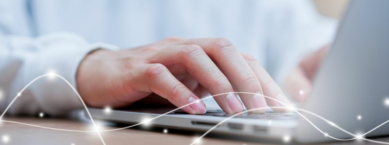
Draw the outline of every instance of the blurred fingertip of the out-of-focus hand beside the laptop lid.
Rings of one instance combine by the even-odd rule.
[[[305,102],[312,90],[311,81],[301,65],[286,77],[284,85],[287,94],[300,102]]]

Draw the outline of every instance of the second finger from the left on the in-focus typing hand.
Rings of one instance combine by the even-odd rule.
[[[171,46],[166,51],[158,53],[151,62],[160,62],[169,66],[182,65],[187,73],[209,90],[212,95],[233,92],[232,85],[227,77],[217,68],[200,46]],[[215,96],[214,99],[226,113],[238,113],[243,110],[243,105],[236,94]]]

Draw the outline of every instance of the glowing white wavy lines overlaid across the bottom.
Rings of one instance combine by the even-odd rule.
[[[61,78],[63,81],[65,81],[65,82],[72,88],[72,90],[75,92],[75,94],[77,94],[78,98],[79,98],[80,101],[82,102],[82,105],[84,106],[86,113],[88,114],[89,118],[91,119],[91,122],[92,122],[92,124],[93,124],[95,130],[89,130],[89,131],[84,131],[84,130],[66,130],[66,129],[60,129],[60,128],[50,128],[50,127],[45,127],[45,126],[32,125],[32,124],[28,124],[28,123],[20,123],[20,122],[15,122],[15,121],[6,121],[6,120],[2,120],[4,114],[8,111],[9,107],[11,107],[11,105],[16,101],[16,99],[18,99],[18,97],[21,97],[21,96],[22,96],[23,91],[24,91],[28,86],[32,85],[35,81],[37,81],[37,80],[39,80],[40,78],[43,78],[43,77],[58,77],[58,78]],[[214,130],[214,128],[216,128],[217,126],[221,125],[222,123],[224,123],[224,122],[227,121],[228,119],[231,119],[231,118],[233,118],[233,117],[235,117],[235,116],[238,116],[238,115],[240,115],[240,114],[242,114],[242,113],[247,113],[247,112],[249,112],[249,111],[255,111],[255,110],[266,109],[266,108],[272,108],[272,109],[274,109],[274,108],[287,108],[287,109],[289,109],[289,110],[291,110],[291,111],[294,111],[294,112],[298,113],[302,118],[304,118],[305,120],[307,120],[308,123],[310,123],[315,129],[317,129],[318,131],[320,131],[324,136],[327,136],[327,137],[332,138],[332,139],[334,139],[334,140],[340,140],[340,141],[366,140],[366,141],[368,141],[368,142],[374,142],[374,143],[380,143],[380,144],[389,144],[389,142],[380,142],[380,141],[376,141],[376,140],[371,140],[371,139],[364,138],[365,135],[367,135],[367,134],[370,133],[371,131],[376,130],[376,129],[379,128],[380,126],[385,125],[386,123],[389,122],[389,120],[385,121],[384,123],[378,125],[377,127],[373,128],[373,129],[371,129],[370,131],[367,131],[366,133],[363,133],[363,134],[360,134],[360,135],[356,135],[356,134],[350,133],[350,132],[347,131],[347,130],[344,130],[344,129],[341,128],[340,126],[337,126],[335,123],[333,123],[333,122],[331,122],[331,121],[329,121],[329,120],[327,120],[327,119],[325,119],[325,118],[323,118],[323,117],[321,117],[321,116],[319,116],[319,115],[317,115],[317,114],[315,114],[315,113],[312,113],[312,112],[307,111],[307,110],[304,110],[304,109],[299,109],[299,108],[296,108],[296,107],[293,107],[293,106],[289,106],[289,105],[287,105],[287,104],[285,104],[285,103],[283,103],[283,102],[281,102],[281,101],[278,101],[277,99],[273,99],[272,97],[268,97],[268,96],[265,96],[265,95],[262,95],[262,94],[256,94],[256,93],[251,93],[251,92],[228,92],[228,93],[216,94],[216,95],[209,96],[209,97],[204,97],[204,98],[202,98],[202,99],[200,99],[200,100],[205,100],[205,99],[208,99],[208,98],[210,98],[210,97],[216,97],[216,96],[221,96],[221,95],[230,94],[230,93],[242,93],[242,94],[253,94],[253,95],[263,96],[263,97],[266,97],[266,98],[268,98],[268,99],[272,99],[272,100],[274,100],[274,101],[277,101],[277,102],[279,102],[279,103],[282,103],[282,104],[284,104],[286,107],[261,107],[261,108],[250,109],[250,110],[242,111],[242,112],[237,113],[237,114],[233,114],[232,116],[230,116],[230,117],[224,119],[223,121],[217,123],[217,125],[215,125],[215,126],[213,126],[212,128],[210,128],[210,129],[209,129],[208,131],[206,131],[203,135],[201,135],[201,136],[199,136],[198,138],[196,138],[190,145],[194,145],[195,143],[200,142],[200,140],[201,140],[205,135],[207,135],[210,131]],[[198,101],[200,101],[200,100],[198,100]],[[161,115],[159,115],[159,116],[156,116],[156,117],[154,117],[154,118],[144,120],[144,121],[142,121],[142,122],[140,122],[140,123],[137,123],[137,124],[135,124],[135,125],[126,126],[126,127],[123,127],[123,128],[111,129],[111,130],[100,130],[100,129],[98,128],[98,126],[96,125],[95,121],[93,120],[91,114],[89,113],[88,107],[86,107],[86,105],[85,105],[84,101],[82,100],[80,94],[79,94],[79,93],[77,92],[77,90],[70,84],[70,82],[68,82],[65,78],[63,78],[63,77],[61,77],[60,75],[57,75],[57,74],[55,74],[55,73],[47,73],[47,74],[41,75],[41,76],[39,76],[39,77],[33,79],[30,83],[28,83],[28,84],[27,84],[27,85],[26,85],[26,86],[25,86],[25,87],[16,95],[16,97],[14,97],[14,99],[10,102],[10,104],[6,107],[6,109],[4,110],[4,112],[1,114],[1,116],[0,116],[0,121],[2,121],[2,122],[8,122],[8,123],[16,123],[16,124],[21,124],[21,125],[35,126],[35,127],[46,128],[46,129],[51,129],[51,130],[74,131],[74,132],[96,132],[97,135],[98,135],[98,137],[100,138],[101,142],[103,143],[103,145],[106,145],[106,143],[104,142],[103,137],[100,135],[100,132],[123,130],[123,129],[126,129],[126,128],[131,128],[131,127],[134,127],[134,126],[138,126],[138,125],[142,125],[142,124],[147,124],[147,123],[149,123],[150,121],[152,121],[152,120],[154,120],[154,119],[156,119],[156,118],[159,118],[159,117],[161,117],[161,116],[164,116],[164,115],[166,115],[166,114],[168,114],[168,113],[172,113],[172,112],[174,112],[174,111],[176,111],[176,110],[178,110],[178,109],[181,109],[182,107],[186,107],[186,106],[191,105],[191,104],[193,104],[193,103],[196,103],[196,102],[198,102],[198,101],[195,101],[195,102],[186,104],[186,105],[184,105],[184,106],[178,107],[177,109],[173,109],[172,111],[166,112],[166,113],[161,114]],[[312,115],[314,115],[314,116],[316,116],[316,117],[318,117],[318,118],[320,118],[320,119],[326,121],[329,125],[332,125],[332,126],[334,126],[335,128],[338,128],[340,131],[343,131],[343,132],[345,132],[345,133],[347,133],[347,134],[349,134],[349,135],[351,135],[351,136],[354,136],[354,137],[353,137],[353,138],[349,138],[349,139],[341,139],[341,138],[336,138],[336,137],[334,137],[334,136],[331,136],[331,135],[329,135],[328,133],[325,133],[324,131],[322,131],[322,130],[321,130],[320,128],[318,128],[316,125],[314,125],[309,119],[307,119],[307,118],[306,118],[303,114],[301,114],[300,112],[305,112],[305,113],[308,113],[308,114],[312,114]],[[40,114],[39,114],[40,117],[42,117],[43,115],[44,115],[43,113],[40,113]],[[164,130],[164,132],[167,133],[167,130]],[[7,138],[9,138],[9,137],[7,136]],[[285,139],[287,139],[287,140],[285,140]],[[285,136],[285,137],[284,137],[284,141],[288,141],[288,140],[289,140],[289,138],[287,138],[287,136]],[[3,141],[4,141],[4,138],[3,138]]]

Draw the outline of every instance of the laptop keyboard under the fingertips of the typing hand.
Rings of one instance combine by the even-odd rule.
[[[176,114],[188,114],[184,111],[175,111]],[[217,111],[207,111],[203,116],[219,116],[219,117],[231,117],[234,114],[226,114],[221,110]],[[255,113],[242,113],[234,118],[253,118],[253,119],[296,119],[300,115],[296,112],[276,112],[276,111],[266,111],[264,114],[255,114]]]

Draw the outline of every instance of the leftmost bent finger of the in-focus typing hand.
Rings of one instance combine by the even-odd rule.
[[[190,114],[203,114],[207,111],[205,104],[193,94],[184,84],[182,84],[172,73],[162,64],[147,64],[136,68],[131,77],[138,82],[136,87],[144,92],[154,92],[159,96],[168,99],[177,107],[182,107],[187,104],[189,106],[181,108],[183,111]],[[140,82],[140,83],[139,83]]]

